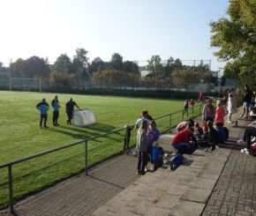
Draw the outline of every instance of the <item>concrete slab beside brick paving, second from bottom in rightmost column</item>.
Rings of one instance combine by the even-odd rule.
[[[184,191],[184,195],[181,199],[206,204],[211,192],[212,190],[189,188]]]

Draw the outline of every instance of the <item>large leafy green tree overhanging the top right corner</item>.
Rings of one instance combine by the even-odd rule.
[[[256,81],[256,0],[232,0],[227,14],[211,22],[211,46],[219,48],[215,52],[222,61],[229,61],[227,70],[232,77],[245,77],[247,82]],[[234,70],[235,71],[231,71]],[[249,83],[247,83],[249,84]]]

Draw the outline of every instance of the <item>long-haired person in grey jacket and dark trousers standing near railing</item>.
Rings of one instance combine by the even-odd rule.
[[[145,175],[147,162],[147,121],[142,121],[137,132],[136,151],[138,152],[138,175]]]

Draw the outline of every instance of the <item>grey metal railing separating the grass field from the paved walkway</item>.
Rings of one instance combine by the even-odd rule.
[[[199,111],[194,112],[195,108],[199,108]],[[192,116],[189,116],[189,117],[194,117],[194,114],[200,115],[200,113],[201,113],[201,105],[194,106],[194,108],[192,108]],[[162,115],[162,116],[154,118],[154,120],[159,121],[163,118],[168,117],[169,125],[167,127],[167,130],[170,130],[171,128],[173,128],[174,126],[177,125],[177,123],[174,121],[174,116],[177,115],[177,114],[181,115],[181,116],[179,116],[179,117],[181,117],[181,119],[179,117],[177,118],[177,123],[179,123],[180,121],[184,121],[184,110],[177,111],[177,112],[174,112],[174,113],[170,113],[170,114],[167,114],[167,115]],[[79,144],[84,143],[85,144],[85,153],[84,153],[85,154],[85,174],[88,175],[88,142],[91,141],[91,140],[97,139],[97,138],[103,138],[103,137],[106,137],[110,134],[114,134],[114,133],[117,133],[119,131],[125,130],[125,140],[126,140],[125,141],[125,152],[129,153],[129,151],[130,151],[130,146],[129,146],[130,138],[128,138],[128,136],[129,136],[129,130],[130,130],[131,126],[134,126],[134,125],[129,125],[129,126],[126,126],[125,128],[122,128],[122,129],[112,130],[112,131],[109,131],[107,133],[103,133],[102,135],[94,136],[93,138],[87,138],[87,139],[84,139],[82,141],[72,143],[70,145],[64,145],[64,146],[57,147],[57,148],[51,149],[51,150],[43,152],[43,153],[34,154],[32,156],[29,156],[29,157],[26,157],[26,158],[23,158],[23,159],[20,159],[20,160],[15,160],[15,161],[11,161],[9,163],[6,163],[4,165],[0,165],[0,169],[1,168],[8,168],[9,205],[10,205],[11,213],[14,213],[12,166],[17,165],[17,164],[22,163],[22,162],[25,162],[26,160],[32,160],[34,158],[38,158],[38,157],[41,157],[41,156],[49,154],[49,153],[55,153],[55,152],[58,152],[60,150],[66,149],[66,148],[70,148],[74,145],[79,145]],[[166,132],[167,130],[165,130],[165,131],[162,130],[162,131]]]

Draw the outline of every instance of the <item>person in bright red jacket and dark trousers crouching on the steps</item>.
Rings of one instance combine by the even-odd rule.
[[[189,124],[186,129],[181,130],[172,139],[172,146],[176,149],[177,153],[191,154],[195,150],[195,145],[191,141],[193,134],[192,124]]]

